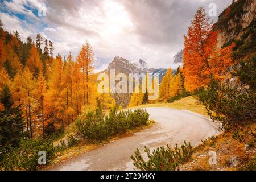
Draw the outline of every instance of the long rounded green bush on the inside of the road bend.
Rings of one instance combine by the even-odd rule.
[[[128,129],[147,125],[148,118],[149,114],[143,109],[118,111],[117,106],[104,118],[98,105],[95,111],[86,111],[76,120],[77,134],[90,142],[101,142]]]

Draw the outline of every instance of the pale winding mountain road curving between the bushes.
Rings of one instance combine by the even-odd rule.
[[[200,114],[162,107],[146,110],[150,119],[155,119],[154,126],[57,164],[51,170],[133,170],[130,156],[136,148],[143,151],[144,146],[173,146],[184,140],[196,146],[202,139],[220,134],[219,125]]]

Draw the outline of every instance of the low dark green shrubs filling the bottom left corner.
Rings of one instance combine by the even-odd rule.
[[[77,144],[76,138],[68,137],[68,146],[61,140],[60,144],[53,146],[53,140],[43,139],[24,139],[19,143],[19,147],[9,147],[0,149],[0,170],[37,170],[41,167],[38,164],[39,151],[46,152],[46,165],[59,152],[64,152],[68,147]],[[44,166],[44,165],[42,165]]]

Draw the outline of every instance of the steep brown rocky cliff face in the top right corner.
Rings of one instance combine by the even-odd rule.
[[[255,19],[256,1],[238,0],[226,8],[219,16],[216,28],[218,34],[218,48],[233,39],[240,39],[246,27],[250,26]]]

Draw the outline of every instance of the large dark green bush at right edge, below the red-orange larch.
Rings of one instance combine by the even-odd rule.
[[[211,80],[204,100],[208,114],[213,121],[220,121],[222,129],[230,130],[238,125],[255,122],[256,94],[250,90],[238,91],[216,80]]]

